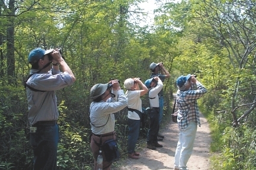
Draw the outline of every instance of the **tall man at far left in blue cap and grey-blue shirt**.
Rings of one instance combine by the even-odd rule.
[[[30,144],[34,151],[33,169],[56,169],[59,112],[55,91],[73,84],[75,76],[58,49],[36,48],[28,55],[28,62],[31,70],[25,87]]]

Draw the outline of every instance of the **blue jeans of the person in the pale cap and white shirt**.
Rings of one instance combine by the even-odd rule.
[[[128,119],[128,127],[128,153],[134,153],[136,142],[139,138],[140,120]]]

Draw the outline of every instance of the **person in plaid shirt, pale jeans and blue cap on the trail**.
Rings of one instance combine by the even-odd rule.
[[[193,151],[197,125],[200,127],[197,99],[200,99],[207,90],[197,81],[196,76],[191,74],[178,77],[176,83],[180,134],[175,152],[174,170],[185,170]]]

